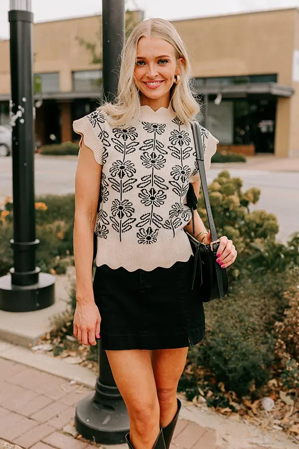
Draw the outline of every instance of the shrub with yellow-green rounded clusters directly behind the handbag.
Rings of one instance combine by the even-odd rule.
[[[219,235],[227,235],[234,241],[238,257],[230,277],[278,267],[284,270],[291,262],[299,263],[299,233],[292,234],[287,244],[276,242],[279,230],[277,218],[263,210],[250,212],[250,205],[257,204],[260,190],[242,191],[240,178],[231,178],[222,171],[209,185],[209,195],[215,225]],[[208,227],[202,192],[197,210]]]

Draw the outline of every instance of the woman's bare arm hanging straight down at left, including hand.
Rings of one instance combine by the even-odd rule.
[[[76,269],[76,310],[74,335],[83,344],[96,344],[100,314],[92,288],[93,232],[100,192],[102,166],[93,152],[81,143],[75,176],[74,259]]]

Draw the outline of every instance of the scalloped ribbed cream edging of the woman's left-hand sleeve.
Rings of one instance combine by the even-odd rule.
[[[98,164],[102,164],[102,153],[103,153],[103,144],[99,137],[96,135],[95,130],[88,120],[87,116],[84,116],[78,120],[73,122],[73,129],[75,133],[81,135],[81,139],[79,142],[79,153],[81,150],[81,144],[84,136],[85,145],[93,151],[95,160]]]

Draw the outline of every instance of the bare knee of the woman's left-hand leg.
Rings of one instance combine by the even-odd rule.
[[[141,435],[147,435],[159,422],[159,403],[150,402],[147,404],[131,405],[129,415],[135,431]]]

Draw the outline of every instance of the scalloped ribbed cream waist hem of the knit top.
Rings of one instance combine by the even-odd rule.
[[[183,230],[179,230],[174,238],[150,245],[98,237],[97,248],[97,266],[106,264],[113,269],[123,266],[128,271],[138,268],[151,271],[157,266],[169,268],[175,262],[186,262],[193,254],[187,234]]]

